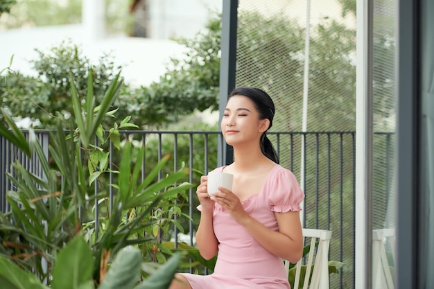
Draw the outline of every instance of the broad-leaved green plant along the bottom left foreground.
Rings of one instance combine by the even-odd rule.
[[[139,249],[124,247],[110,265],[110,270],[103,279],[100,289],[134,288],[134,289],[165,289],[170,284],[173,274],[180,263],[180,254],[174,255],[164,265],[156,265],[158,268],[148,279],[139,282],[141,267],[146,263],[141,262]],[[92,252],[83,236],[78,236],[59,252],[58,261],[53,269],[53,289],[82,288],[92,289],[93,271]],[[12,263],[4,256],[0,256],[0,274],[2,288],[33,288],[46,289],[34,274],[26,272]]]

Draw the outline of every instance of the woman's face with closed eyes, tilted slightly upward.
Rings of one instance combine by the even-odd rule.
[[[221,130],[226,142],[231,146],[250,141],[259,143],[269,124],[268,119],[259,119],[259,112],[250,98],[236,95],[227,101]]]

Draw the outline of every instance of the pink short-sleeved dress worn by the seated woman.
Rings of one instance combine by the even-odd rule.
[[[278,231],[274,212],[300,211],[303,198],[295,175],[277,165],[261,192],[243,201],[243,207],[263,225]],[[290,288],[282,259],[259,245],[219,204],[214,205],[213,224],[219,242],[216,267],[207,276],[184,273],[193,289]]]

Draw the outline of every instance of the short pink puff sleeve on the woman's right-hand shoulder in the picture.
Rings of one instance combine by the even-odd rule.
[[[281,168],[273,177],[268,188],[268,202],[271,211],[286,213],[288,211],[301,211],[300,203],[304,193],[297,182],[295,175],[286,168]]]

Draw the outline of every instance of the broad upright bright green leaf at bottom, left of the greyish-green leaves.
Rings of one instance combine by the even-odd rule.
[[[53,268],[53,289],[76,289],[92,277],[94,260],[83,236],[68,243],[58,255]]]

